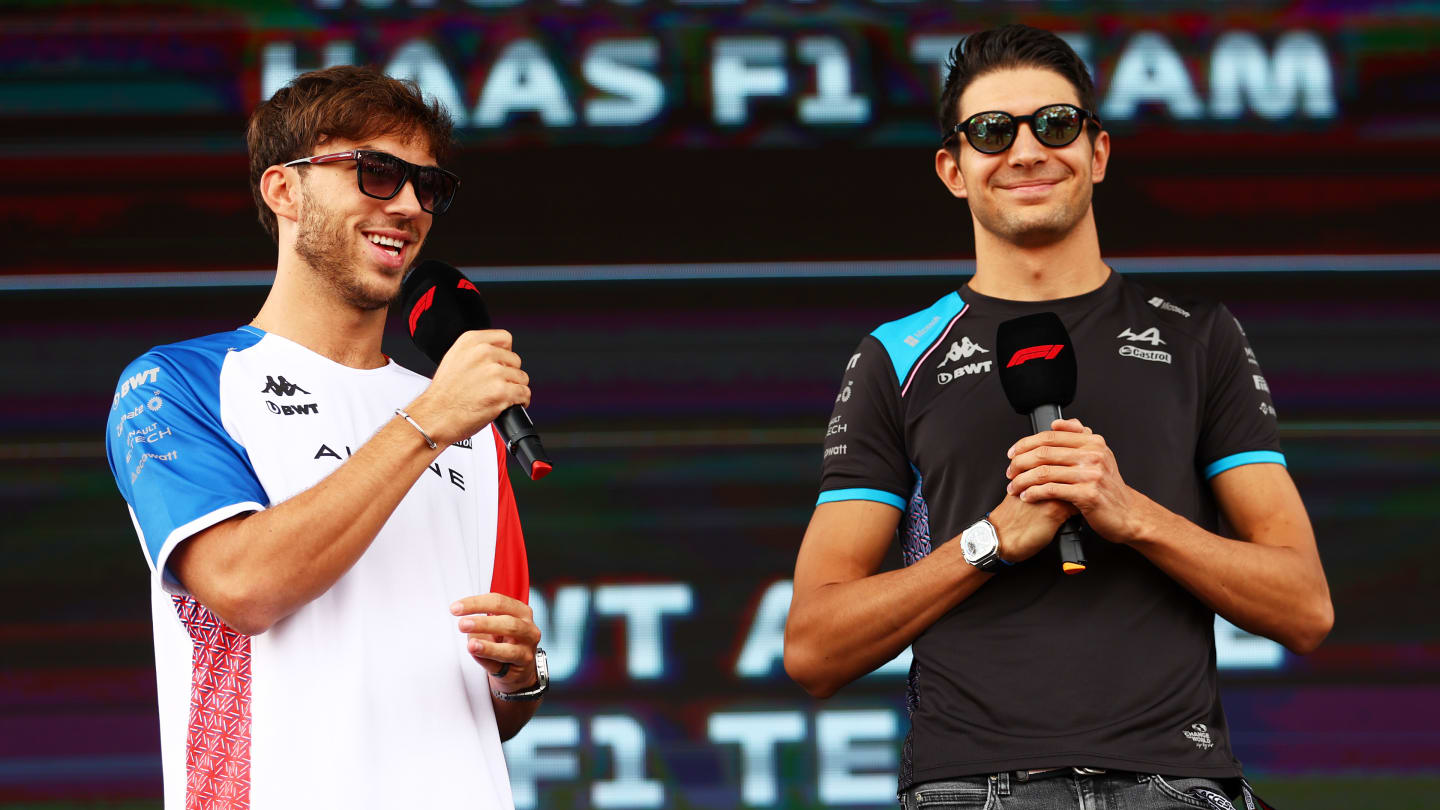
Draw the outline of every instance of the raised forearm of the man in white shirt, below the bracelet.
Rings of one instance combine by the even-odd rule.
[[[183,543],[174,569],[226,624],[264,633],[360,559],[441,450],[390,419],[311,489]]]

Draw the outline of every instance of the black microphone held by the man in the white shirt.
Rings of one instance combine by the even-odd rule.
[[[490,329],[490,313],[480,290],[442,261],[428,259],[410,271],[400,285],[400,301],[415,346],[436,365],[461,334]],[[554,468],[524,406],[511,405],[501,411],[495,417],[495,430],[530,480],[539,481]]]

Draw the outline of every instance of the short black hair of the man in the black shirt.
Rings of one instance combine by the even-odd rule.
[[[966,36],[945,63],[949,75],[940,94],[940,133],[949,137],[960,121],[960,95],[975,79],[995,71],[1040,68],[1066,78],[1080,97],[1080,107],[1094,112],[1094,82],[1070,45],[1054,33],[1022,25],[1008,25]],[[1030,112],[1025,110],[1025,112]],[[1089,127],[1090,137],[1094,131]]]

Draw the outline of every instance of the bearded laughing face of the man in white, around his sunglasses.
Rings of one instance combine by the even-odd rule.
[[[364,143],[325,141],[317,154],[370,148],[419,166],[433,166],[425,143],[396,135]],[[400,280],[415,262],[433,216],[420,210],[415,187],[377,200],[360,192],[356,164],[346,160],[311,166],[300,180],[295,254],[340,297],[360,310],[379,310],[400,294]]]

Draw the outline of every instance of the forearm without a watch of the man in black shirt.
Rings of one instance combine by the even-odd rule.
[[[1231,624],[1309,653],[1333,623],[1329,588],[1309,523],[1284,510],[1244,542],[1207,532],[1139,494],[1132,536],[1123,542]]]

